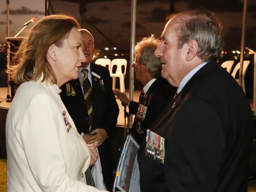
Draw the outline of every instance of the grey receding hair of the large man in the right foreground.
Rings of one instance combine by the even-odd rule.
[[[176,29],[178,48],[194,39],[198,43],[197,56],[202,61],[211,61],[221,57],[222,25],[213,12],[207,10],[193,10],[176,13],[168,17],[185,16],[183,22]]]

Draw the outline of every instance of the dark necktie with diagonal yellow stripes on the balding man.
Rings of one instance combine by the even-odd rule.
[[[83,97],[85,100],[86,109],[88,112],[88,122],[89,122],[89,131],[91,131],[91,125],[93,124],[93,92],[91,83],[88,79],[88,70],[83,69],[82,70],[84,76],[83,76]]]

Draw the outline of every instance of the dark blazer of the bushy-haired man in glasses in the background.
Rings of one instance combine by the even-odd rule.
[[[134,118],[132,125],[132,135],[140,144],[146,135],[147,129],[150,129],[152,124],[161,114],[166,105],[168,105],[176,92],[177,88],[171,86],[165,79],[158,78],[149,87],[147,94],[142,98],[141,104],[148,107],[145,119],[141,122],[144,133],[138,133],[136,131],[137,117]],[[129,112],[136,114],[138,111],[137,102],[129,103]]]

